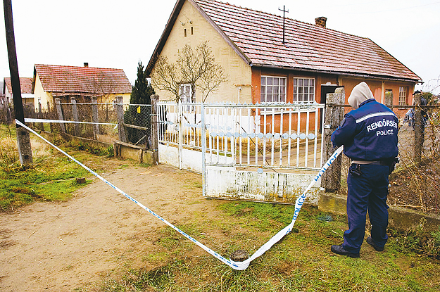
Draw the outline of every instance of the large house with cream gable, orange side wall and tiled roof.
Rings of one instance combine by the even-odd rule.
[[[316,18],[313,25],[286,18],[283,42],[282,16],[213,0],[177,0],[146,72],[151,75],[158,56],[173,63],[185,44],[208,41],[230,81],[206,102],[325,103],[337,87],[345,87],[348,99],[365,81],[377,101],[384,103],[392,91],[393,104],[413,104],[419,76],[372,40],[329,29],[326,20]],[[172,99],[167,91],[156,93]]]

